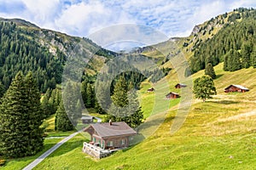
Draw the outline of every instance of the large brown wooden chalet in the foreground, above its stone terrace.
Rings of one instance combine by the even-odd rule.
[[[90,133],[90,144],[100,146],[104,150],[128,147],[132,136],[137,134],[125,122],[90,124],[84,132]]]

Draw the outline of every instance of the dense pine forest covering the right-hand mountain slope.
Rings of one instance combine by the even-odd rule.
[[[239,8],[229,16],[218,33],[194,48],[195,54],[189,59],[192,73],[224,62],[224,71],[236,71],[249,66],[256,67],[256,10]]]

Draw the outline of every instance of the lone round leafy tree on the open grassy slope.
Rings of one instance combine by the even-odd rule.
[[[202,99],[203,102],[206,99],[211,99],[211,95],[217,94],[212,78],[207,76],[196,78],[193,93],[195,98]]]

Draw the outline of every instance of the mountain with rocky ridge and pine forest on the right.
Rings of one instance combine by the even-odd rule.
[[[189,37],[172,37],[166,42],[139,48],[135,53],[160,58],[163,66],[172,66],[165,63],[171,57],[182,54],[189,60],[190,71],[195,73],[205,69],[208,62],[218,65],[225,59],[228,60],[229,57],[226,55],[231,53],[230,50],[235,50],[239,53],[238,59],[241,60],[238,69],[247,68],[255,65],[255,19],[255,9],[237,8],[195,26]],[[175,48],[172,48],[173,44]],[[230,69],[232,62],[225,63],[226,67],[230,65],[226,71],[235,71]]]

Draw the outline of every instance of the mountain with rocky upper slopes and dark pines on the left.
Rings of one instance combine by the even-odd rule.
[[[18,71],[32,71],[44,93],[61,83],[63,65],[78,46],[86,52],[85,58],[95,54],[84,70],[89,77],[115,55],[88,38],[42,29],[26,20],[0,18],[0,79],[8,88]]]

